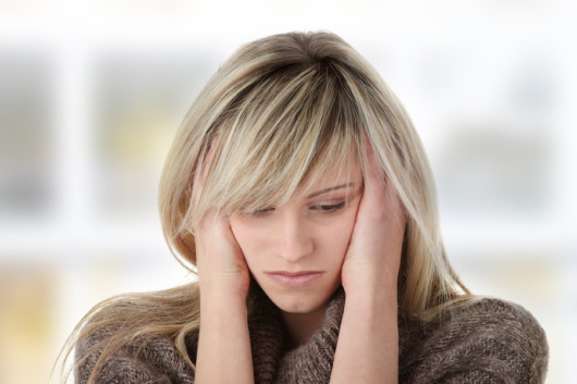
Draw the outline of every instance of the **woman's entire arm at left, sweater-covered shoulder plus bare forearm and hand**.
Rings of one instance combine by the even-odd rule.
[[[162,317],[162,307],[139,307],[127,297],[93,312],[83,325],[75,348],[76,383],[254,382],[245,304],[248,271],[228,220],[217,218],[207,215],[196,231],[201,311],[196,373],[172,334],[143,334],[147,324],[142,321],[126,332],[126,322],[145,310]]]

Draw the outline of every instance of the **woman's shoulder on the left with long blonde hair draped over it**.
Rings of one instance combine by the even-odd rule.
[[[138,325],[146,308],[128,300],[101,306],[84,323],[75,348],[75,382],[193,383],[194,375],[169,334]]]

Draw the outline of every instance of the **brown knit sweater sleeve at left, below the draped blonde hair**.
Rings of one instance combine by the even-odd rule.
[[[168,336],[137,337],[100,362],[113,333],[113,326],[105,326],[81,339],[75,351],[75,383],[88,383],[95,368],[95,384],[194,383],[191,368]]]

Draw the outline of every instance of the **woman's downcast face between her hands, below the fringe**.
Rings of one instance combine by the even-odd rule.
[[[253,276],[282,311],[314,312],[340,286],[361,194],[355,165],[349,173],[327,173],[282,206],[231,216]]]

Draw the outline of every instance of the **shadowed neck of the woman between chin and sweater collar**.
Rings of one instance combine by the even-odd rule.
[[[327,305],[308,313],[281,312],[284,326],[288,334],[288,349],[306,344],[324,322]]]

